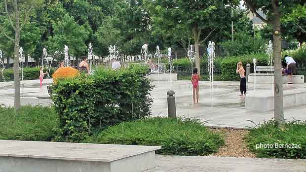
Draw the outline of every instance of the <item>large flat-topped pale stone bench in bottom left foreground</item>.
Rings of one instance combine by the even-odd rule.
[[[0,140],[0,172],[143,172],[160,148]]]

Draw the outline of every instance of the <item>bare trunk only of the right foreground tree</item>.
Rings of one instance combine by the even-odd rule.
[[[280,14],[274,9],[273,59],[274,59],[274,118],[278,124],[284,122],[283,83],[281,75],[281,34]]]

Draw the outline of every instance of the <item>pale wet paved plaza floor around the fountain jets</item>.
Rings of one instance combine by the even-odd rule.
[[[24,81],[21,89],[24,97],[48,96],[46,84],[52,79],[45,79],[42,90],[39,89],[39,80]],[[259,112],[245,110],[245,99],[239,97],[239,82],[214,82],[212,96],[210,83],[200,81],[200,100],[193,104],[190,81],[154,81],[152,96],[153,116],[167,115],[167,91],[174,90],[176,110],[178,116],[195,117],[206,121],[207,126],[245,128],[255,126],[250,121],[259,123],[273,118],[273,111]],[[284,90],[306,87],[306,84],[284,84]],[[271,84],[256,84],[257,90],[271,90]],[[253,90],[253,85],[248,85]],[[272,92],[272,90],[271,90]],[[14,82],[0,83],[0,103],[14,105]],[[306,120],[306,106],[296,106],[284,109],[286,120]]]

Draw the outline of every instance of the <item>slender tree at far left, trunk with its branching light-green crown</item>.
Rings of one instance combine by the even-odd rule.
[[[15,37],[11,37],[6,33],[4,27],[0,24],[0,31],[9,40],[14,41],[14,90],[15,99],[14,106],[15,110],[20,108],[20,76],[19,76],[19,43],[20,43],[20,32],[29,20],[29,16],[35,5],[38,5],[40,0],[4,0],[0,3],[2,13],[5,14],[9,25],[12,27]]]

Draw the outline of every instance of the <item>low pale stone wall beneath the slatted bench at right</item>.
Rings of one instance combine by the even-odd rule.
[[[254,77],[255,75],[255,77]],[[274,74],[271,73],[250,73],[248,75],[248,83],[274,83]],[[282,82],[287,83],[289,82],[289,76],[285,75],[282,76]],[[304,83],[304,75],[293,75],[292,76],[292,83],[294,84],[303,84]]]

